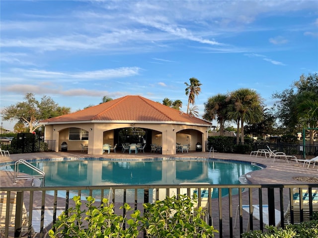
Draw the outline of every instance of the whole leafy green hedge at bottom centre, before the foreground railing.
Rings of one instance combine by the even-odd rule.
[[[154,204],[145,203],[145,212],[133,210],[128,204],[120,207],[129,211],[130,219],[114,213],[114,205],[104,198],[101,205],[94,206],[95,199],[87,197],[87,211],[81,210],[79,196],[75,196],[75,208],[63,212],[52,230],[50,238],[137,238],[140,231],[152,238],[213,238],[218,232],[203,219],[202,207],[194,208],[196,198],[186,195],[167,197]],[[128,224],[125,229],[124,224]]]

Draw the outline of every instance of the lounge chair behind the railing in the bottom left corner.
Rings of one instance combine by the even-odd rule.
[[[7,207],[9,211],[7,212]],[[43,216],[43,231],[48,232],[47,228],[53,222],[53,210],[44,210]],[[62,214],[62,210],[56,210],[56,217]],[[42,210],[34,209],[30,213],[32,216],[32,226],[29,226],[29,213],[25,209],[24,203],[22,203],[22,217],[21,221],[21,236],[27,236],[30,228],[30,236],[35,238],[41,233],[41,217]],[[16,218],[16,193],[10,193],[10,199],[7,200],[7,193],[0,193],[0,237],[8,237],[10,233],[15,232],[15,220]]]

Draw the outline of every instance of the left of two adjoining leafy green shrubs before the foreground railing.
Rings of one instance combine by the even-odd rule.
[[[140,211],[136,210],[131,214],[131,219],[126,219],[114,213],[114,204],[109,203],[107,198],[102,200],[100,206],[94,206],[95,199],[87,197],[87,211],[81,211],[82,202],[79,196],[75,196],[75,208],[69,208],[68,213],[62,213],[57,222],[49,231],[50,238],[80,237],[80,238],[137,238],[139,235]],[[120,209],[132,211],[133,209],[125,204]],[[125,230],[124,224],[129,227]]]

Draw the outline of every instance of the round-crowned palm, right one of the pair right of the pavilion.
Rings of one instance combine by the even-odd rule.
[[[244,143],[244,122],[256,123],[261,121],[263,109],[261,107],[261,97],[249,88],[240,88],[230,94],[230,105],[228,116],[238,124],[237,143],[239,144],[239,122],[241,143]]]

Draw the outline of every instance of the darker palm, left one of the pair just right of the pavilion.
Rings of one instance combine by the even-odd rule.
[[[228,96],[225,94],[217,94],[208,98],[208,102],[204,104],[203,119],[213,120],[217,119],[220,124],[220,135],[224,135],[224,124],[227,120],[228,110]]]

